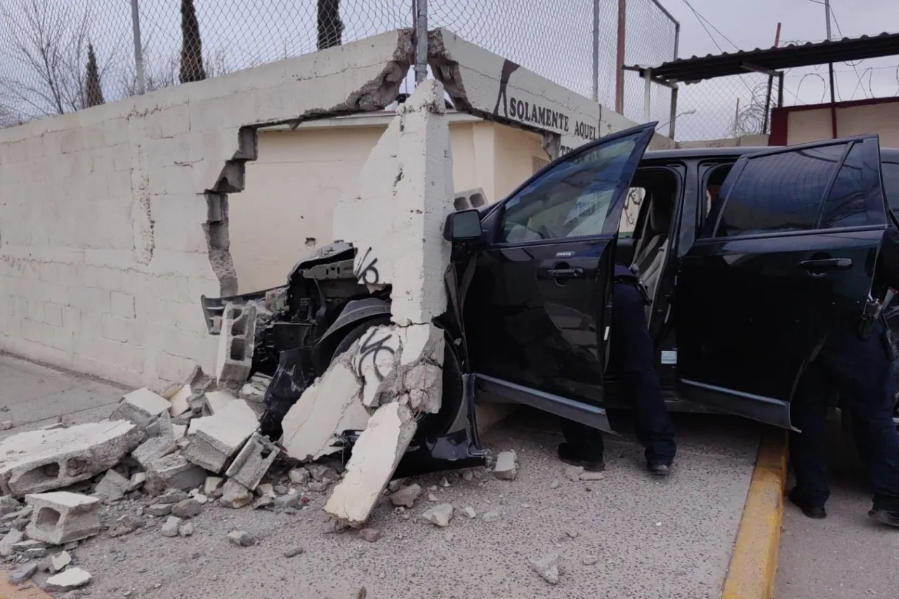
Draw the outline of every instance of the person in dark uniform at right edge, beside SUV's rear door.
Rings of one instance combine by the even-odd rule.
[[[875,289],[899,289],[899,231],[888,228],[878,257]],[[890,291],[892,293],[893,291]],[[840,392],[850,413],[859,457],[868,467],[874,503],[868,512],[881,523],[899,527],[899,434],[893,422],[895,375],[892,339],[878,304],[866,317],[837,318],[820,353],[810,363],[790,407],[790,463],[796,487],[788,494],[809,518],[825,518],[830,496],[824,421],[827,390]]]

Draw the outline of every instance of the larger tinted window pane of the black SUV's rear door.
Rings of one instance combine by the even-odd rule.
[[[749,158],[726,192],[715,237],[815,228],[846,144]]]

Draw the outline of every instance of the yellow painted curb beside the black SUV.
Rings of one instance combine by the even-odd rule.
[[[786,484],[787,433],[770,429],[755,460],[721,599],[770,599],[774,594]]]

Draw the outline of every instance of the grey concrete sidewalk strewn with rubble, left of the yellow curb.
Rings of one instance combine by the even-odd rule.
[[[0,405],[13,420],[35,426],[46,416],[69,422],[101,418],[122,391],[95,380],[43,369],[0,356]],[[93,404],[91,403],[93,402]],[[626,423],[625,423],[626,424]],[[645,599],[718,599],[743,511],[758,448],[758,431],[722,417],[678,417],[681,448],[672,478],[650,478],[642,450],[624,435],[608,443],[605,478],[573,482],[555,458],[561,435],[555,421],[521,410],[485,435],[493,451],[518,452],[514,481],[448,476],[420,478],[424,495],[406,514],[387,502],[369,524],[382,532],[378,542],[354,532],[327,534],[320,511],[324,494],[297,514],[206,507],[193,520],[189,538],[165,538],[163,519],[117,539],[84,541],[76,563],[93,574],[92,596],[184,599],[209,597],[355,597],[362,586],[373,597],[510,599],[539,596]],[[558,480],[558,485],[554,481]],[[449,527],[416,522],[440,503],[456,512]],[[104,508],[104,523],[136,514],[147,498]],[[462,510],[475,508],[469,520]],[[490,510],[499,521],[480,518]],[[405,519],[405,515],[411,515]],[[240,548],[227,532],[243,529],[259,539]],[[292,559],[284,550],[302,546]],[[550,586],[531,571],[528,560],[559,552],[562,577]],[[587,556],[597,562],[585,565]],[[42,575],[41,575],[42,576]],[[38,577],[40,581],[40,576]]]

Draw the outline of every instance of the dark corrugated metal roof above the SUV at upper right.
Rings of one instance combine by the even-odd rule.
[[[704,79],[743,75],[752,70],[745,65],[777,71],[784,68],[810,67],[893,55],[899,55],[899,33],[884,32],[875,36],[863,35],[860,38],[678,58],[653,67],[653,76],[672,83],[696,83]],[[629,69],[638,70],[641,75],[643,74],[643,69],[639,65]]]

